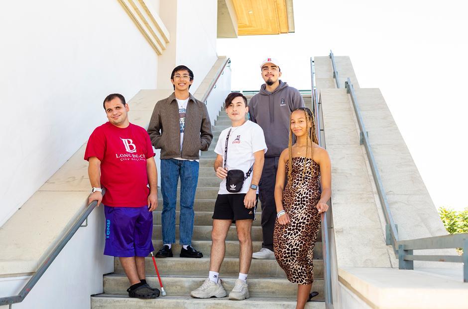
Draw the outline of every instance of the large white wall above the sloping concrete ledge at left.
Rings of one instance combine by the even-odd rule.
[[[107,121],[108,94],[156,87],[158,58],[117,0],[7,1],[0,29],[1,226]]]

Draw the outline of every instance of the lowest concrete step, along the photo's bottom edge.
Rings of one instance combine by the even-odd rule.
[[[229,293],[229,292],[228,292]],[[317,296],[319,297],[319,296]],[[296,308],[295,297],[250,297],[240,302],[230,301],[225,298],[194,299],[190,296],[165,296],[155,300],[139,300],[129,298],[127,295],[99,294],[91,297],[92,309],[246,309],[246,308],[268,308],[268,309],[294,309]],[[324,302],[309,302],[306,309],[325,309]]]

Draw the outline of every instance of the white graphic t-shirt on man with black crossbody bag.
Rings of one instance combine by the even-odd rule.
[[[260,150],[263,150],[265,153],[267,151],[263,130],[259,125],[251,122],[250,120],[247,120],[239,127],[230,127],[223,130],[215,148],[215,153],[223,156],[223,164],[226,138],[228,137],[228,132],[230,129],[231,134],[229,135],[228,141],[228,160],[226,161],[226,169],[240,169],[244,172],[244,174],[246,174],[250,169],[250,166],[252,166],[253,162],[255,161],[253,154]],[[242,190],[237,193],[247,193],[250,188],[250,183],[252,182],[252,176],[253,171],[250,173],[248,178],[244,180]],[[229,192],[226,189],[226,178],[221,181],[218,194],[237,193]]]

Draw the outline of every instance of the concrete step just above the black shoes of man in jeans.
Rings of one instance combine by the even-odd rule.
[[[260,220],[260,219],[257,219]],[[193,240],[211,240],[211,225],[195,225],[193,227]],[[162,228],[161,225],[153,225],[153,239],[161,239]],[[251,230],[252,241],[262,241],[261,226],[252,226]],[[226,240],[237,240],[237,232],[235,225],[231,225],[228,231]],[[179,240],[179,226],[176,225],[176,240]]]

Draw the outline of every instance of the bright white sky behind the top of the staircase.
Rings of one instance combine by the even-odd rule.
[[[294,0],[295,33],[218,39],[233,90],[255,90],[266,56],[310,89],[310,57],[350,56],[380,88],[436,207],[468,207],[468,15],[462,0]]]

